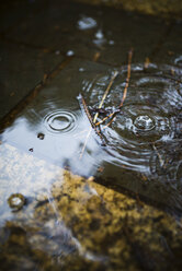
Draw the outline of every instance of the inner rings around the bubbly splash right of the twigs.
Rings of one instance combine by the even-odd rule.
[[[171,137],[173,120],[168,117],[158,106],[152,105],[127,105],[123,107],[113,127],[126,139],[135,139],[136,142],[153,142],[163,136]],[[122,134],[121,134],[122,136]]]

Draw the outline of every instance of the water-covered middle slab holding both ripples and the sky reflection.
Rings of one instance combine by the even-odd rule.
[[[122,110],[110,127],[105,126],[109,121],[101,125],[105,146],[91,128],[78,95],[83,95],[93,118],[114,70],[104,68],[98,73],[94,66],[100,66],[88,62],[80,67],[79,61],[71,67],[77,75],[71,79],[68,69],[42,90],[2,133],[2,142],[87,177],[98,176],[98,168],[103,166],[103,179],[114,177],[116,187],[180,211],[182,70],[178,61],[175,66],[150,63],[147,69],[143,63],[132,64]],[[103,105],[105,111],[98,120],[122,101],[127,66],[117,70]],[[126,176],[122,180],[123,173]],[[143,178],[147,179],[147,191],[140,188]]]

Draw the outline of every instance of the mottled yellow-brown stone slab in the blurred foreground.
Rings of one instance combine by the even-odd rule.
[[[26,205],[1,223],[0,261],[3,268],[180,269],[180,221],[95,184],[93,177],[86,179],[54,165],[48,166],[47,162],[21,153],[15,148],[3,148],[9,158],[14,156],[16,160],[14,170],[20,176],[22,172],[23,177],[27,170],[29,181],[34,181],[35,186],[31,200],[27,190],[24,190]],[[5,163],[10,163],[8,156]],[[15,177],[13,167],[8,169],[8,166],[1,165],[1,169],[3,178],[8,174],[10,186]],[[38,181],[44,184],[45,180],[49,181],[49,186],[43,189]],[[18,192],[19,186],[15,188],[15,182],[12,184]],[[32,189],[32,186],[30,184],[27,188]]]

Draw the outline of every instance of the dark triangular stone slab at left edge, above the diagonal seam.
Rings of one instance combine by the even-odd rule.
[[[44,78],[62,61],[44,49],[23,45],[0,44],[0,119],[22,101]]]

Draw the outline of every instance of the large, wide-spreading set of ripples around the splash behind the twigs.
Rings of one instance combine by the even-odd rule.
[[[182,96],[177,83],[177,81],[179,82],[179,71],[175,73],[177,79],[170,72],[171,67],[169,69],[166,66],[150,64],[147,71],[141,64],[132,66],[132,78],[122,110],[110,127],[105,128],[104,125],[101,127],[107,140],[107,150],[110,150],[107,162],[150,175],[153,174],[156,165],[156,172],[160,172],[159,166],[162,166],[162,162],[158,163],[160,153],[158,153],[156,144],[160,144],[162,150],[162,145],[175,140],[177,115],[179,115],[180,107],[182,108]],[[120,105],[126,75],[127,67],[123,67],[104,102],[104,109],[115,109]],[[93,85],[88,84],[89,89],[84,87],[84,93],[90,95],[88,97],[88,99],[90,98],[89,105],[95,107],[99,105],[96,101],[102,98],[111,76],[111,74],[103,74],[96,79]],[[179,102],[174,103],[177,92]],[[155,165],[151,160],[153,154],[157,157]],[[162,161],[166,158],[162,157]],[[173,165],[168,163],[169,167],[173,167]],[[167,170],[162,168],[161,172],[166,173]]]

